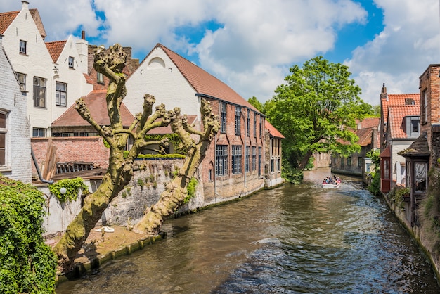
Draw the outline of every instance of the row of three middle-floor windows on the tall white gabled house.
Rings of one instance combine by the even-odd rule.
[[[17,79],[20,83],[20,89],[26,91],[26,75],[17,72]],[[46,87],[47,80],[42,77],[34,77],[34,107],[46,108]],[[55,105],[67,106],[67,84],[56,82],[55,84]]]

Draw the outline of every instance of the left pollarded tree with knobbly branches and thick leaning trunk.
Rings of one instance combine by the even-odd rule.
[[[127,61],[127,56],[122,50],[122,46],[115,44],[110,46],[108,50],[98,48],[94,55],[93,67],[97,72],[101,72],[108,77],[109,85],[107,90],[106,102],[108,116],[110,118],[110,125],[101,127],[93,117],[82,99],[76,101],[79,115],[84,120],[89,122],[96,132],[108,143],[110,146],[109,167],[103,176],[102,184],[98,189],[84,199],[84,206],[77,217],[67,226],[65,234],[56,244],[54,251],[58,255],[58,265],[61,271],[68,271],[71,269],[78,251],[82,248],[86,238],[89,236],[91,229],[96,225],[105,208],[110,201],[115,198],[120,191],[129,184],[133,176],[134,160],[138,154],[148,145],[166,144],[166,141],[147,141],[145,135],[155,127],[167,126],[172,123],[173,129],[179,129],[179,124],[185,121],[180,117],[180,110],[178,108],[172,111],[166,111],[165,106],[161,104],[156,107],[153,113],[153,104],[155,98],[150,95],[144,96],[143,113],[135,115],[134,122],[131,123],[128,129],[122,126],[120,116],[120,106],[124,96],[127,94],[125,88],[125,77],[122,72]],[[203,101],[203,105],[206,101]],[[206,132],[216,132],[218,121],[216,117],[210,113],[210,108],[207,106],[207,113],[202,119],[205,122]],[[178,134],[180,134],[178,132]],[[201,133],[200,133],[201,134]],[[189,136],[189,135],[188,135]],[[124,158],[124,148],[127,141],[131,137],[133,145],[131,146],[127,157]],[[182,138],[186,139],[186,138]],[[204,136],[205,143],[209,144],[212,135]],[[202,151],[197,151],[200,155],[204,155],[204,144],[193,146],[194,148],[202,148]],[[192,150],[195,150],[195,149]],[[196,151],[194,151],[196,152]],[[187,170],[192,171],[191,164],[188,163]],[[188,177],[193,174],[186,174],[187,170],[181,171],[182,184],[188,183]],[[183,188],[185,188],[183,186]],[[152,231],[152,230],[148,230]],[[157,230],[156,230],[157,231]]]

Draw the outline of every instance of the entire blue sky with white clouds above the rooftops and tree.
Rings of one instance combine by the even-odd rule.
[[[418,77],[440,63],[440,0],[28,0],[46,41],[80,37],[131,46],[141,61],[161,43],[266,101],[292,65],[315,56],[349,66],[361,98],[418,93]],[[0,0],[0,11],[21,9]]]

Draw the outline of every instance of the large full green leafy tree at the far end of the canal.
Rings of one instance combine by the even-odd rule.
[[[342,155],[360,150],[351,132],[356,119],[371,113],[346,65],[315,57],[295,65],[285,84],[265,103],[266,117],[284,136],[283,155],[304,170],[315,152]]]

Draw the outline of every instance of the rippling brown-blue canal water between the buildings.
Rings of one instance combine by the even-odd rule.
[[[308,182],[165,222],[167,238],[61,293],[440,293],[382,198]]]

